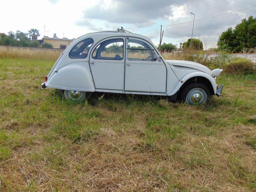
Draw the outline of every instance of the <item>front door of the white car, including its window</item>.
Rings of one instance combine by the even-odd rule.
[[[165,93],[166,76],[166,66],[149,42],[126,38],[125,91]]]

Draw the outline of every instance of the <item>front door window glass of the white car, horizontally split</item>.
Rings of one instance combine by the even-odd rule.
[[[137,61],[156,61],[157,56],[153,51],[153,47],[137,39],[129,39],[127,46],[127,59]]]

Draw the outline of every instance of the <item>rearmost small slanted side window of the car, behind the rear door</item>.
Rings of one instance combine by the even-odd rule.
[[[69,52],[69,57],[72,59],[81,58],[84,59],[88,55],[88,51],[93,44],[92,38],[87,38],[85,40],[80,41],[77,43],[72,50]]]

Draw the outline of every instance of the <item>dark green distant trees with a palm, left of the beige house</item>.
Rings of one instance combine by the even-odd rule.
[[[30,29],[28,33],[16,31],[16,33],[10,31],[8,34],[2,34],[0,36],[0,45],[10,46],[24,46],[24,47],[39,47],[40,43],[37,40],[40,33],[37,29]],[[52,48],[52,44],[44,43],[41,45],[44,48]]]

